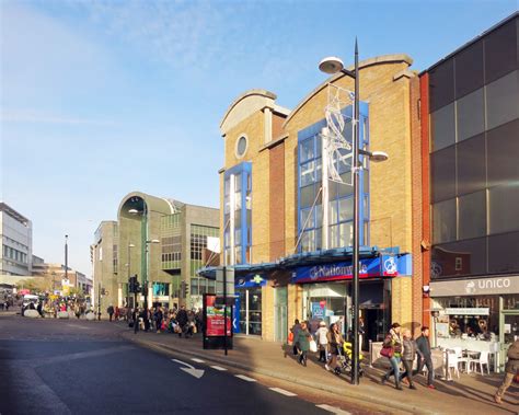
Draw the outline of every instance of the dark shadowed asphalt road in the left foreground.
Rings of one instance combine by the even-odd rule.
[[[117,330],[0,314],[0,414],[327,413],[251,378],[139,348]]]

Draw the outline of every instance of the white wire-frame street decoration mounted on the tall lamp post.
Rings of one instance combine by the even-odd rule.
[[[344,114],[344,108],[353,105],[354,99],[351,91],[328,83],[327,104],[324,109],[326,128],[322,130],[323,163],[326,163],[327,168],[323,172],[327,171],[327,178],[349,185],[353,184],[354,119]],[[347,178],[344,174],[341,176],[341,171],[349,172]]]

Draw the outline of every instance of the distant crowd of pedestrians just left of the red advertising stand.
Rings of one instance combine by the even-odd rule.
[[[112,315],[115,314],[115,309],[109,306],[106,310],[112,321]],[[177,334],[178,337],[184,335],[185,338],[193,336],[195,333],[201,332],[203,328],[203,312],[201,310],[186,310],[185,306],[180,309],[164,309],[162,306],[155,308],[135,308],[132,310],[126,309],[130,327],[137,333],[140,330],[149,332],[150,330],[157,333],[169,332]],[[116,319],[117,320],[117,319]]]

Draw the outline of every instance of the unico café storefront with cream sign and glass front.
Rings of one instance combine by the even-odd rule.
[[[503,368],[508,346],[519,339],[519,276],[434,281],[430,296],[435,344],[496,353]]]

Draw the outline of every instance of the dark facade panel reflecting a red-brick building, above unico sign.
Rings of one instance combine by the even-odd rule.
[[[432,247],[431,278],[486,274],[486,238]]]

